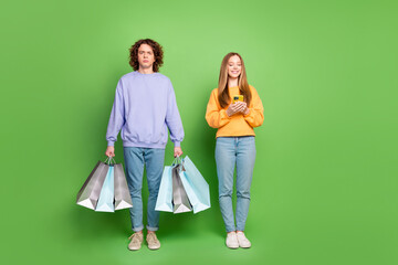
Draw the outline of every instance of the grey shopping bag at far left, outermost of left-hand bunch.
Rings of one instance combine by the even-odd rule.
[[[96,208],[101,188],[104,183],[104,180],[106,178],[107,171],[109,169],[109,165],[105,162],[98,161],[93,169],[93,171],[90,173],[88,178],[84,182],[81,190],[77,192],[76,203],[78,205],[88,208],[94,210]]]

